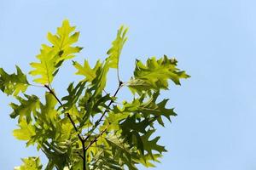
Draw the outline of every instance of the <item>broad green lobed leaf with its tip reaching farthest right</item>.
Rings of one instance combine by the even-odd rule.
[[[177,60],[168,59],[166,55],[160,59],[154,57],[148,59],[146,65],[137,60],[134,77],[131,78],[128,86],[133,93],[142,94],[143,91],[148,92],[151,89],[155,91],[168,89],[168,80],[180,85],[179,80],[188,78],[189,75],[185,71],[179,71],[176,66]]]

